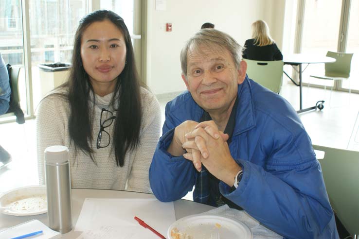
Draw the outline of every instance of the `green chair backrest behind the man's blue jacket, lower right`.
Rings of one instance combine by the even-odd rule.
[[[359,235],[359,152],[313,148],[325,152],[319,162],[333,210],[351,235]]]

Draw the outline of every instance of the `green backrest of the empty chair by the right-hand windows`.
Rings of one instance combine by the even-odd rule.
[[[328,51],[326,56],[336,59],[335,62],[325,63],[326,76],[344,78],[348,78],[350,76],[350,66],[352,63],[353,53]]]

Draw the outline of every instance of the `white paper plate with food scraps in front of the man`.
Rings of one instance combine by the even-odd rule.
[[[188,216],[174,222],[167,231],[167,238],[172,229],[190,236],[191,239],[210,239],[212,233],[218,233],[220,239],[252,239],[251,230],[242,222],[215,215]],[[186,237],[179,237],[186,239]]]

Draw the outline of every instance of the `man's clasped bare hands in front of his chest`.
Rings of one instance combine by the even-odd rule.
[[[232,187],[234,176],[241,168],[234,161],[227,140],[228,135],[218,130],[213,120],[201,123],[187,120],[176,127],[167,151],[193,161],[197,171],[204,165],[216,178]]]

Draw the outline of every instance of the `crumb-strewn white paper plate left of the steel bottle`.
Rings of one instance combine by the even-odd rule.
[[[47,212],[46,186],[16,188],[0,196],[3,214],[32,216]]]

